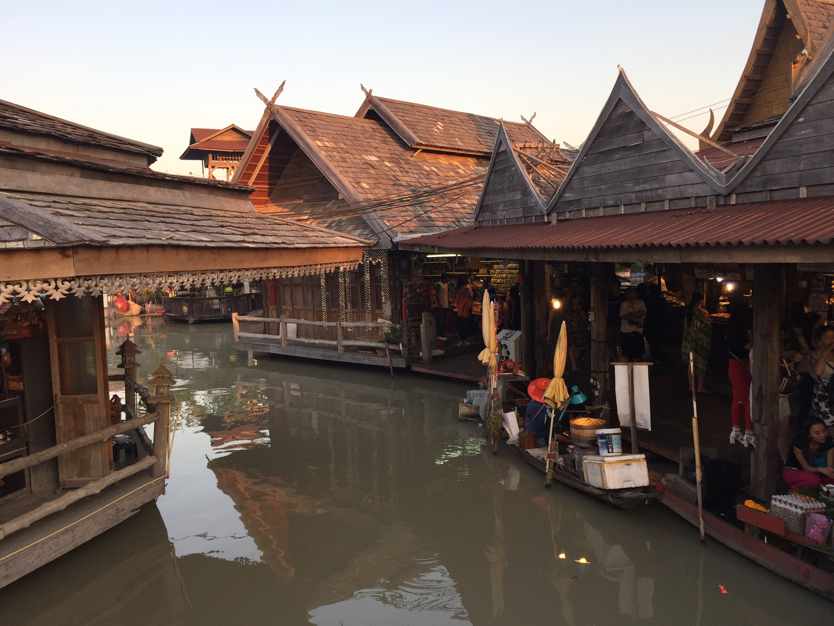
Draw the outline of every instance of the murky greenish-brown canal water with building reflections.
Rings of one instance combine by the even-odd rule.
[[[831,623],[659,502],[545,491],[458,421],[467,383],[253,359],[224,324],[110,333],[112,366],[129,336],[140,381],[173,372],[167,491],[0,589],[0,623]]]

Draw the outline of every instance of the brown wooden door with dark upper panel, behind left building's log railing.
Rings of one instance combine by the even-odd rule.
[[[63,298],[49,302],[47,314],[55,438],[62,443],[110,424],[102,299]],[[109,441],[62,454],[61,487],[82,487],[106,476],[110,455]]]

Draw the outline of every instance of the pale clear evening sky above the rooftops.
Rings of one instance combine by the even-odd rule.
[[[254,129],[264,104],[353,115],[374,95],[520,121],[580,144],[625,69],[650,109],[700,132],[724,113],[764,0],[75,2],[0,0],[0,99],[163,147]],[[694,113],[687,114],[687,112]],[[694,115],[694,117],[693,117]],[[686,139],[690,146],[694,139]]]

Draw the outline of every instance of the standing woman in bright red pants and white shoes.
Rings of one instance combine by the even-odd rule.
[[[730,356],[727,376],[732,383],[732,431],[730,443],[739,441],[745,446],[756,445],[753,434],[753,422],[750,419],[750,329],[753,326],[753,316],[748,305],[736,305],[727,322],[727,352]],[[744,432],[741,432],[741,425]]]

